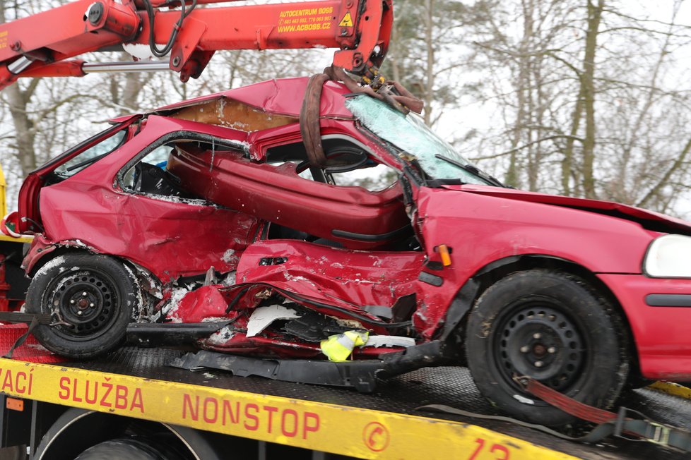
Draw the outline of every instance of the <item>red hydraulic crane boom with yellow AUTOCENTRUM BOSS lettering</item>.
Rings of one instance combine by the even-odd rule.
[[[389,46],[391,0],[198,7],[229,1],[77,0],[0,24],[0,90],[24,76],[83,76],[88,64],[72,58],[117,45],[169,56],[183,81],[199,77],[221,49],[338,48],[333,65],[362,75]]]

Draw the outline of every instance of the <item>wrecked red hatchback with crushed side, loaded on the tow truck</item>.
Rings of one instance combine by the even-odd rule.
[[[691,380],[691,224],[506,188],[340,83],[314,159],[306,86],[125,116],[30,174],[13,218],[35,234],[42,344],[88,358],[191,341],[204,351],[183,367],[363,391],[467,363],[497,406],[545,425],[572,417],[514,377],[599,407],[627,381]]]

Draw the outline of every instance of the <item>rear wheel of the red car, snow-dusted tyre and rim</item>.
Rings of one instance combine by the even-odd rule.
[[[26,310],[51,315],[51,325],[34,329],[47,349],[68,358],[92,358],[122,344],[140,299],[134,274],[121,262],[106,255],[67,254],[35,274]]]

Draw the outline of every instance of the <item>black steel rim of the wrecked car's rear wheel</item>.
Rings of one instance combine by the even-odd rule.
[[[87,341],[104,334],[117,320],[121,297],[110,274],[88,268],[59,274],[48,286],[46,305],[55,332]]]

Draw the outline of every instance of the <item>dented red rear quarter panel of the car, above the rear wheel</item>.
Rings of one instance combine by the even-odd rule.
[[[203,130],[208,132],[199,132]],[[175,195],[171,188],[138,188],[133,172],[158,169],[160,178],[167,177],[165,164],[157,161],[163,159],[162,152],[201,138],[220,145],[232,134],[225,128],[150,116],[117,152],[43,188],[45,235],[54,244],[85,246],[130,260],[164,283],[211,267],[216,272],[235,270],[238,256],[256,234],[255,217]]]

